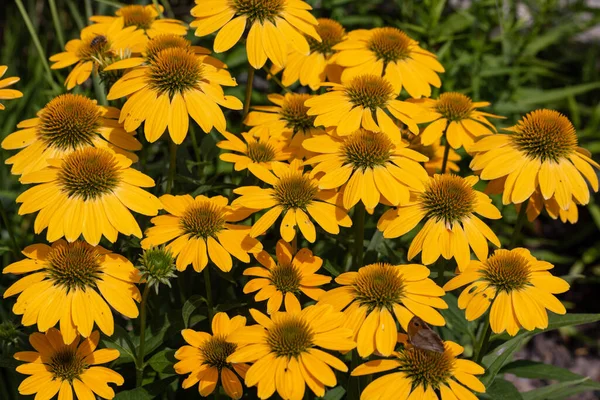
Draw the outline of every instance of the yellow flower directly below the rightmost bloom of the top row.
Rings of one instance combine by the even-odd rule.
[[[386,111],[419,133],[414,117],[423,111],[416,104],[396,100],[400,88],[375,74],[358,75],[341,84],[331,83],[331,90],[308,99],[308,115],[316,115],[315,126],[337,127],[339,135],[349,135],[358,128],[383,131],[393,141],[400,141],[400,128]],[[377,121],[375,121],[375,118]]]

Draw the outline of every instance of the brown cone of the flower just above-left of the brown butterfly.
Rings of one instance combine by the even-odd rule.
[[[387,308],[400,302],[404,293],[404,281],[396,268],[387,263],[366,265],[358,270],[358,276],[352,284],[354,297],[362,305],[373,309]]]

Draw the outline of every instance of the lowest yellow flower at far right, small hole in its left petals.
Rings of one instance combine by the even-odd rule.
[[[496,250],[485,261],[473,260],[469,267],[444,285],[450,291],[467,286],[458,297],[468,321],[481,317],[491,306],[490,325],[495,333],[505,330],[515,336],[548,327],[546,309],[565,314],[565,307],[553,294],[569,290],[569,284],[549,272],[554,265],[539,261],[529,250]]]

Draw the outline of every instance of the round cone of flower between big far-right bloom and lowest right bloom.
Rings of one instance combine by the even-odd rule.
[[[461,221],[471,214],[476,202],[473,188],[457,175],[435,175],[420,197],[427,211],[425,218],[446,224]]]

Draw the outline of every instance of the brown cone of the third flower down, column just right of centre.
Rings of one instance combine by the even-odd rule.
[[[363,171],[377,165],[385,165],[394,148],[388,136],[381,132],[359,129],[344,139],[341,151],[346,157],[345,162]]]

